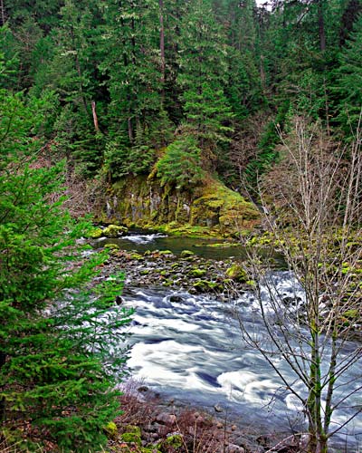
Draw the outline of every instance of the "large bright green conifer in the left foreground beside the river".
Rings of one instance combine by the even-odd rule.
[[[102,427],[119,413],[113,371],[121,377],[124,369],[119,329],[129,313],[110,310],[110,302],[122,276],[81,290],[105,256],[82,255],[75,241],[88,226],[71,220],[62,198],[52,201],[63,165],[42,164],[42,109],[1,91],[0,118],[4,434],[21,439],[30,423],[64,451],[97,449],[106,440]]]

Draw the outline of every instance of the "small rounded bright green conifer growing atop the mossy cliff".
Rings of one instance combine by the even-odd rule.
[[[200,149],[192,137],[181,137],[166,149],[157,161],[157,176],[163,185],[175,184],[176,188],[195,186],[204,177],[201,169]]]

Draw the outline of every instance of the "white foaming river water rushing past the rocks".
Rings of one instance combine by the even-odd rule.
[[[158,235],[134,235],[121,241],[122,248],[128,246],[139,251],[168,248],[178,253],[177,250],[195,246],[193,240]],[[207,257],[213,255],[220,259],[238,254],[233,247],[215,250],[197,245],[193,248],[195,253]],[[290,273],[275,273],[272,279],[283,296],[303,300],[303,291]],[[217,410],[223,410],[221,416],[227,413],[243,427],[262,428],[267,433],[305,429],[299,401],[282,386],[262,355],[243,342],[239,316],[249,332],[261,334],[264,329],[252,294],[243,294],[232,304],[223,304],[205,295],[126,284],[123,298],[127,306],[136,310],[129,329],[132,347],[128,363],[133,378],[165,398],[212,411],[216,406]],[[346,354],[356,346],[350,342]],[[302,384],[295,381],[288,364],[278,357],[274,358],[274,364],[302,394]],[[348,382],[348,391],[357,390],[360,385],[361,368],[359,361],[345,373],[343,379]],[[343,398],[343,391],[344,387],[338,388],[338,398]],[[361,404],[362,396],[357,391],[336,411],[332,428],[343,424],[352,413],[351,408]],[[342,449],[346,442],[348,447]],[[360,414],[341,430],[334,445],[341,448],[338,451],[360,451]]]

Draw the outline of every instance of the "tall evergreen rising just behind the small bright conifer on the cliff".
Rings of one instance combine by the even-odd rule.
[[[209,1],[196,0],[190,5],[180,27],[177,82],[183,90],[187,133],[194,133],[214,159],[217,144],[227,140],[232,130],[232,113],[224,96],[227,44]]]

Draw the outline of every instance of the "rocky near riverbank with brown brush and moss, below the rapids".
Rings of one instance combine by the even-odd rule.
[[[222,408],[214,413],[161,396],[129,381],[120,399],[122,414],[110,424],[108,450],[112,453],[280,453],[302,451],[305,437],[243,428]],[[277,448],[275,448],[277,446]]]

